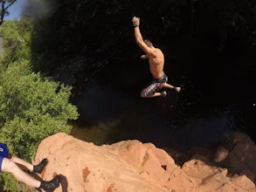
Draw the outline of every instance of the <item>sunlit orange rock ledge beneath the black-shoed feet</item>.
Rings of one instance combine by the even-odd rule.
[[[55,191],[256,191],[246,175],[227,176],[226,168],[197,159],[180,168],[163,149],[136,140],[96,146],[59,133],[41,142],[35,163],[45,157],[40,176],[61,175]]]

